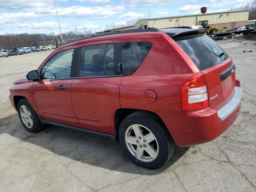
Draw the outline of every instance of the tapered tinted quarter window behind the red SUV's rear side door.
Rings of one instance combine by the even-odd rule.
[[[133,74],[151,49],[152,44],[147,42],[122,43],[122,70],[123,75]]]

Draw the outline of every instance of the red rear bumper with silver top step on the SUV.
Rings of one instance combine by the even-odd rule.
[[[180,147],[214,140],[236,120],[242,104],[242,90],[235,87],[230,102],[216,111],[211,108],[198,111],[167,111],[157,114],[166,124],[172,138]]]

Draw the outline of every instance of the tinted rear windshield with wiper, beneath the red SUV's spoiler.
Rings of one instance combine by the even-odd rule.
[[[208,69],[228,58],[228,54],[205,34],[173,39],[188,54],[199,70]]]

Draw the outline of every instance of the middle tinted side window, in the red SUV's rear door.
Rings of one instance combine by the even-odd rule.
[[[114,44],[82,47],[79,63],[80,77],[114,74]]]

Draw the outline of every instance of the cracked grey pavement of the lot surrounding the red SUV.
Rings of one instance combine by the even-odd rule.
[[[236,64],[243,89],[240,116],[212,142],[176,148],[158,170],[136,166],[108,138],[55,126],[27,132],[8,89],[51,51],[0,58],[0,191],[256,191],[256,46],[248,40],[218,44]]]

